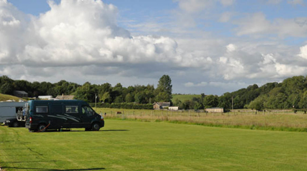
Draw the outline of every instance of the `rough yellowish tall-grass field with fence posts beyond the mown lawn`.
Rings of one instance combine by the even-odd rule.
[[[307,114],[282,112],[256,112],[235,110],[229,113],[204,113],[196,111],[126,110],[97,108],[106,118],[137,121],[166,121],[171,123],[197,124],[214,127],[246,128],[277,131],[307,132]],[[119,113],[119,114],[117,114]]]

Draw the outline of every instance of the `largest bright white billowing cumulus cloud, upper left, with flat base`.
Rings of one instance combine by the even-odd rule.
[[[178,57],[177,43],[173,39],[150,35],[131,37],[128,31],[119,28],[116,25],[117,9],[113,5],[104,4],[100,0],[63,0],[59,5],[52,2],[49,5],[50,11],[38,18],[32,17],[33,26],[25,28],[32,33],[29,36],[32,41],[20,45],[23,50],[16,52],[18,60],[14,63],[70,66],[80,63],[90,65],[175,60],[176,63],[188,62],[188,66],[193,65],[188,58]],[[14,23],[13,14],[6,15],[12,16],[7,23]],[[1,21],[6,20],[2,17]],[[12,27],[15,25],[11,24]],[[6,44],[6,41],[9,39],[4,39],[3,43]],[[14,46],[12,43],[11,47],[0,51],[2,62],[12,52],[9,48]]]

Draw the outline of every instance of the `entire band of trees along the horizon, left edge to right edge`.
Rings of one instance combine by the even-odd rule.
[[[12,80],[8,76],[0,77],[0,92],[12,95],[14,90],[26,91],[29,97],[38,95],[75,95],[75,99],[87,102],[104,103],[139,103],[148,104],[153,102],[171,102],[180,109],[204,109],[211,107],[223,107],[224,109],[251,108],[262,109],[290,109],[307,108],[307,77],[293,76],[281,83],[266,83],[261,87],[257,84],[250,85],[233,92],[226,92],[221,96],[205,95],[194,97],[191,100],[181,102],[172,99],[171,78],[163,75],[157,84],[134,85],[123,87],[118,83],[114,87],[109,83],[91,84],[89,82],[79,85],[61,80],[57,83],[29,82],[26,80]]]

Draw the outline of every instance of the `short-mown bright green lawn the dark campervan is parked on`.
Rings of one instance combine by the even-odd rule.
[[[99,132],[0,126],[10,170],[307,170],[307,133],[106,120]]]

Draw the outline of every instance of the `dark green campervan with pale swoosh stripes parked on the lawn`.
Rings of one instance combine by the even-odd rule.
[[[103,117],[82,100],[29,100],[24,115],[29,131],[61,128],[98,131],[104,126]]]

